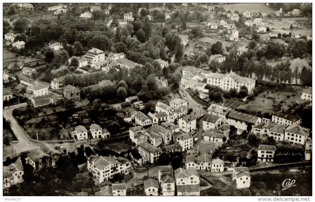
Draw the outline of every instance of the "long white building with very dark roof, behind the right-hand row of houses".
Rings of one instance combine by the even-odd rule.
[[[278,112],[272,114],[272,122],[284,126],[288,125],[301,125],[302,119],[299,115],[294,114],[290,111],[287,112]]]

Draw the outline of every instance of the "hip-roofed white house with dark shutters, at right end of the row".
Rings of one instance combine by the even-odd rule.
[[[307,137],[310,135],[310,129],[299,125],[289,125],[284,131],[284,140],[293,144],[305,145]]]

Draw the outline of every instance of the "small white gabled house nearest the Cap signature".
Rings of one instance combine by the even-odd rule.
[[[247,167],[233,168],[232,180],[236,182],[237,188],[250,187],[250,175]]]

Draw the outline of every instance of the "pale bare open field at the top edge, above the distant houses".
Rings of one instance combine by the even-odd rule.
[[[232,13],[234,13],[235,10],[238,10],[239,12],[242,12],[243,10],[249,10],[251,12],[267,12],[267,13],[273,13],[275,12],[274,9],[270,8],[266,4],[263,3],[234,3],[234,4],[227,4],[222,5],[220,7],[223,7],[226,11],[231,10]]]

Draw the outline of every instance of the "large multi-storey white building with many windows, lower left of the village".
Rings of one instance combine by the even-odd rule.
[[[116,173],[127,174],[131,168],[130,162],[122,157],[91,155],[87,164],[88,171],[92,173],[98,183],[108,181]]]

